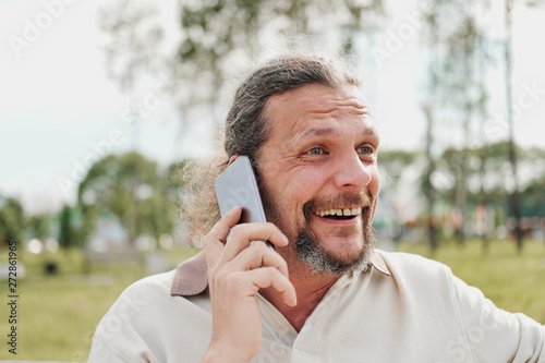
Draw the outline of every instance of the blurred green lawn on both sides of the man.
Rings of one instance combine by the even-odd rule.
[[[432,257],[425,243],[398,244],[398,251]],[[191,251],[178,250],[166,255],[174,267],[187,258]],[[545,244],[526,242],[521,255],[511,242],[495,241],[483,255],[479,241],[469,241],[463,247],[444,243],[433,256],[450,266],[455,275],[480,288],[497,306],[510,312],[522,312],[545,324]],[[0,253],[0,262],[7,253]],[[56,262],[59,273],[44,274],[44,263]],[[25,253],[20,256],[26,267],[26,278],[17,285],[19,322],[17,355],[8,352],[4,341],[0,360],[41,360],[85,362],[90,341],[100,318],[119,294],[132,282],[145,276],[144,269],[132,264],[93,267],[83,274],[83,256],[77,250],[48,255]],[[7,281],[0,281],[7,300]],[[2,300],[2,301],[5,301]],[[0,305],[0,336],[10,329]]]

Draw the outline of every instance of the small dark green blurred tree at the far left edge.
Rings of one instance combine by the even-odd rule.
[[[11,241],[23,245],[26,222],[23,207],[17,199],[7,198],[0,208],[0,246]]]

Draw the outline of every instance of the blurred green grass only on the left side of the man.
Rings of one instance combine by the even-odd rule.
[[[175,267],[191,254],[179,250],[166,257]],[[0,262],[7,262],[4,251]],[[86,362],[100,318],[126,287],[146,275],[136,263],[94,266],[90,274],[84,274],[78,250],[46,255],[25,252],[19,262],[24,264],[26,277],[17,281],[17,354],[8,352],[8,338],[2,338],[0,360]],[[58,264],[57,275],[44,274],[46,262]],[[8,281],[0,283],[2,298],[8,300]],[[4,299],[0,306],[1,337],[11,328]]]

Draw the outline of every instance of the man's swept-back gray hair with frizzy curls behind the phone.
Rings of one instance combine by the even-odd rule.
[[[258,152],[268,140],[274,122],[274,117],[266,111],[267,99],[311,84],[331,88],[360,86],[354,74],[341,61],[319,57],[284,56],[269,60],[251,73],[235,92],[226,120],[227,157],[250,157],[258,174]],[[182,171],[185,186],[181,195],[181,211],[187,223],[187,237],[193,243],[198,243],[220,218],[214,180],[227,168],[227,164],[226,155],[218,153],[211,162],[189,162]]]

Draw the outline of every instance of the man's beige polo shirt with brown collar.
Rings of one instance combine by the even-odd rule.
[[[89,362],[198,362],[211,332],[204,254],[129,287]],[[343,276],[298,334],[265,299],[252,362],[545,362],[545,327],[494,306],[439,263],[377,251]]]

